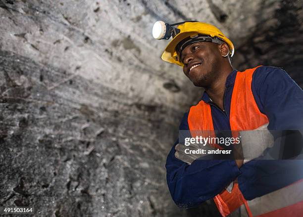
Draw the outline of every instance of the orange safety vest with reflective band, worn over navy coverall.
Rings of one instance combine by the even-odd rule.
[[[252,80],[256,68],[237,72],[229,117],[233,131],[254,130],[269,122],[266,115],[260,112],[253,97]],[[213,136],[214,133],[209,133],[214,130],[210,105],[201,100],[196,106],[192,106],[188,125],[192,136],[196,136],[196,130],[205,132],[203,136]],[[231,193],[223,190],[214,197],[214,202],[223,217],[239,208],[243,210],[242,215],[249,217],[303,216],[303,179],[251,201],[245,200],[238,183],[235,183]]]

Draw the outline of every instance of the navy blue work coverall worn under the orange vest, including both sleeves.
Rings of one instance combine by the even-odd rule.
[[[211,106],[214,130],[231,130],[229,115],[236,74],[237,70],[233,70],[226,80],[225,112],[211,103],[206,92],[202,96],[202,100]],[[260,112],[269,119],[268,130],[303,129],[303,90],[284,70],[258,67],[253,73],[252,91]],[[189,130],[187,118],[188,112],[184,114],[179,130]],[[240,169],[234,160],[196,160],[188,165],[175,157],[175,145],[167,156],[166,179],[171,196],[180,208],[198,206],[213,198],[237,177],[247,200],[303,178],[301,160],[256,159]]]

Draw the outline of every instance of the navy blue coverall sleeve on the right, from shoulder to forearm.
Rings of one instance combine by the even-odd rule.
[[[269,119],[268,130],[303,129],[303,91],[282,69],[259,67],[252,90],[260,111]],[[252,160],[240,168],[239,187],[247,200],[303,178],[302,160]]]

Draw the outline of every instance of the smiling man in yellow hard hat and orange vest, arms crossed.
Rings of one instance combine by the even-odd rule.
[[[284,70],[233,69],[233,43],[209,24],[184,22],[173,33],[162,59],[182,66],[192,83],[205,89],[179,130],[263,130],[251,136],[257,142],[248,149],[262,153],[270,145],[268,130],[303,129],[303,91]],[[268,161],[261,156],[248,161],[201,160],[187,154],[183,142],[175,143],[166,161],[168,188],[179,207],[213,198],[222,216],[303,213],[302,161]]]

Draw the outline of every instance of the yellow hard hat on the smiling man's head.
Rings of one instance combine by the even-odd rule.
[[[215,26],[201,23],[201,22],[185,22],[179,25],[176,29],[178,29],[178,34],[173,37],[173,39],[168,43],[164,52],[162,53],[162,60],[175,63],[179,66],[183,67],[183,63],[179,60],[176,46],[182,40],[188,37],[196,37],[198,35],[210,36],[211,38],[218,38],[219,40],[227,43],[229,46],[229,53],[231,56],[234,55],[235,47],[234,44]]]

